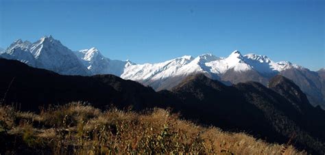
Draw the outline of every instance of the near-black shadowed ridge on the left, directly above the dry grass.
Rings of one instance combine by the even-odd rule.
[[[114,75],[62,76],[6,59],[0,59],[0,70],[0,98],[8,91],[3,102],[15,104],[21,110],[37,111],[44,104],[77,100],[91,102],[99,108],[114,104],[120,108],[132,105],[133,109],[162,102],[152,88]]]

